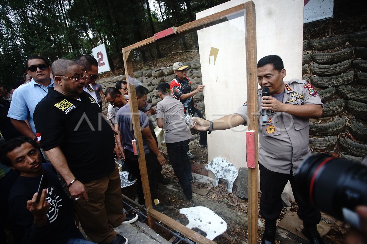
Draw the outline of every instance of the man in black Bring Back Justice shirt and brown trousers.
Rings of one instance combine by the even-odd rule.
[[[102,244],[128,243],[113,227],[130,224],[138,216],[123,213],[112,128],[97,101],[83,91],[86,76],[75,61],[54,61],[52,75],[55,88],[34,110],[41,146],[68,184],[88,237]]]

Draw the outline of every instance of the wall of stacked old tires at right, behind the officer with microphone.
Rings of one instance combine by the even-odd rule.
[[[367,154],[367,31],[304,41],[302,75],[321,97],[323,117],[310,123],[309,146],[361,162]],[[352,119],[350,119],[352,118]]]

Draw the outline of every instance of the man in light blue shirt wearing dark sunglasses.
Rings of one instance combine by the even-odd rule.
[[[54,87],[54,80],[50,78],[51,67],[46,59],[31,56],[25,65],[27,73],[33,78],[14,91],[8,117],[19,132],[37,141],[33,112],[38,102],[48,94],[48,87]]]

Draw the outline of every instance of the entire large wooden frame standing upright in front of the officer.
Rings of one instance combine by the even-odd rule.
[[[246,19],[246,60],[247,60],[247,97],[248,101],[248,130],[255,131],[255,168],[249,168],[249,202],[248,202],[248,216],[249,216],[249,224],[248,224],[248,243],[256,244],[257,243],[257,215],[258,215],[258,101],[257,101],[257,49],[256,49],[256,20],[255,20],[255,5],[252,1],[249,1],[244,4],[237,5],[232,8],[228,8],[227,10],[217,12],[215,14],[209,15],[207,17],[189,22],[185,25],[179,27],[171,27],[167,30],[161,31],[160,33],[156,33],[153,37],[147,38],[143,41],[137,42],[130,46],[127,46],[122,49],[124,66],[125,66],[125,74],[128,80],[128,77],[134,78],[134,69],[132,65],[132,61],[130,59],[130,53],[132,50],[137,48],[142,48],[143,46],[152,44],[153,42],[159,42],[160,38],[164,38],[168,35],[183,35],[188,33],[189,31],[195,31],[204,27],[205,25],[210,24],[211,22],[221,20],[226,16],[234,14],[236,12],[243,12]],[[138,104],[137,100],[132,99],[136,97],[135,86],[131,85],[130,82],[127,82],[128,93],[130,96],[130,109],[131,109],[131,119],[132,125],[134,129],[134,135],[137,139],[138,151],[144,152],[143,149],[143,140],[141,134],[141,127],[139,121],[138,114]],[[144,153],[139,154],[139,168],[140,175],[142,180],[144,198],[146,203],[146,212],[148,215],[148,225],[153,230],[156,230],[155,219],[163,222],[165,225],[174,229],[184,236],[188,237],[192,241],[195,241],[199,244],[214,244],[214,241],[207,239],[201,234],[187,228],[185,225],[182,225],[175,221],[174,219],[168,217],[167,215],[160,213],[153,209],[152,200],[150,196],[150,188],[148,181],[148,173],[146,169],[145,155]]]

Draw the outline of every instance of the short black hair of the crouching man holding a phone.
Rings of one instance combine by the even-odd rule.
[[[1,164],[4,164],[8,167],[13,166],[7,154],[13,151],[14,149],[16,149],[17,147],[22,146],[22,144],[24,143],[29,143],[38,151],[40,150],[40,147],[38,146],[38,144],[28,136],[19,136],[19,137],[13,138],[11,140],[6,141],[0,147]]]

